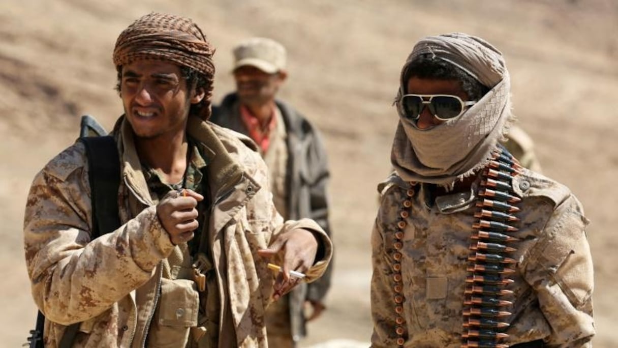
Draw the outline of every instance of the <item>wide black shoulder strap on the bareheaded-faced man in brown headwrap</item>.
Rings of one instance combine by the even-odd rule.
[[[92,201],[92,235],[112,232],[121,226],[118,214],[120,160],[112,136],[80,137],[88,156]]]

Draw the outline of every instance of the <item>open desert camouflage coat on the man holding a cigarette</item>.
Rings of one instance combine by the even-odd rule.
[[[46,347],[56,347],[73,323],[81,323],[75,347],[192,345],[188,327],[197,324],[196,285],[176,276],[166,279],[170,269],[181,274],[187,263],[171,261],[171,255],[182,258],[182,245],[172,245],[159,223],[129,124],[124,121],[117,128],[123,225],[116,231],[90,238],[91,193],[80,142],[51,160],[30,189],[25,257],[33,297],[47,318]],[[250,144],[248,138],[193,117],[187,129],[205,146],[209,162],[213,206],[204,232],[218,284],[208,290],[221,298],[219,346],[266,347],[263,313],[274,276],[256,250],[284,230],[302,227],[320,233],[326,256],[307,271],[313,281],[328,266],[331,243],[312,220],[284,222],[277,214],[266,165],[243,144],[243,139]]]

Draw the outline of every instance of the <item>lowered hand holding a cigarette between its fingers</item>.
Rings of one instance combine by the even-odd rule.
[[[274,283],[274,300],[278,300],[298,284],[300,279],[290,277],[290,271],[307,271],[313,265],[317,251],[318,240],[313,233],[303,228],[281,233],[268,249],[258,250],[258,254],[266,258],[272,258],[276,254],[282,256],[281,272]]]

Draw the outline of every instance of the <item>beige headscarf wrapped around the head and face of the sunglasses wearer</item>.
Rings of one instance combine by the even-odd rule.
[[[481,38],[464,33],[426,37],[414,46],[402,68],[396,102],[404,94],[408,66],[421,54],[454,64],[491,89],[463,115],[430,129],[418,129],[414,121],[399,115],[391,152],[397,173],[406,181],[449,188],[485,167],[503,136],[511,116],[509,72],[502,53]]]

